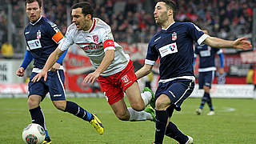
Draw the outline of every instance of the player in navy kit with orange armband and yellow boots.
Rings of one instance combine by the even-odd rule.
[[[26,14],[30,18],[30,23],[24,30],[26,38],[26,55],[16,72],[19,77],[24,75],[26,67],[34,59],[34,68],[30,76],[28,106],[33,123],[38,123],[46,130],[45,117],[39,106],[40,102],[50,93],[50,98],[58,110],[74,114],[78,118],[90,122],[96,128],[99,134],[103,134],[103,126],[94,114],[84,110],[74,102],[66,101],[64,91],[64,72],[62,60],[66,52],[62,54],[58,61],[54,63],[48,71],[49,77],[46,81],[31,82],[32,78],[42,71],[47,58],[56,49],[59,42],[63,41],[63,35],[53,22],[42,17],[42,1],[26,0]],[[46,130],[46,139],[44,143],[51,143],[48,131]]]

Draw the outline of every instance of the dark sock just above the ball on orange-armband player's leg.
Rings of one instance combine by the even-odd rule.
[[[30,115],[32,118],[32,123],[37,123],[38,125],[42,126],[46,130],[45,121],[44,121],[45,118],[40,106],[34,109],[30,109]]]

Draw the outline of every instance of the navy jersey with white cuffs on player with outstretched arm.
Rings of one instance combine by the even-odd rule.
[[[194,78],[193,42],[201,44],[208,35],[191,22],[174,22],[151,38],[146,64],[154,65],[160,60],[160,81],[172,78]]]

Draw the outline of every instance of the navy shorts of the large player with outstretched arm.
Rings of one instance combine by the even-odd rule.
[[[181,110],[182,102],[190,96],[194,90],[194,81],[190,79],[175,79],[170,82],[159,83],[155,93],[155,99],[161,94],[170,98],[171,105],[175,110]]]

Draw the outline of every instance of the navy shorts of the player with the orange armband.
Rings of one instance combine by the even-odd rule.
[[[31,82],[32,78],[38,73],[32,73],[29,82],[29,96],[32,94],[40,95],[43,98],[49,92],[52,101],[65,100],[64,89],[64,71],[57,70],[56,72],[49,71],[46,82],[43,78],[39,82]]]

